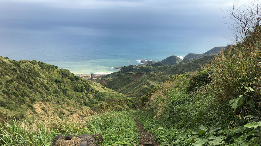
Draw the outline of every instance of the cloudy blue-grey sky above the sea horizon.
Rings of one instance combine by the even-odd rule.
[[[246,3],[243,0],[240,3]],[[0,0],[0,32],[229,36],[233,0]]]

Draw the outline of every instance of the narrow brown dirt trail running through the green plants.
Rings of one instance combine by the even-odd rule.
[[[153,135],[147,133],[147,131],[145,131],[143,129],[143,126],[139,122],[136,114],[134,114],[134,116],[135,116],[135,121],[136,121],[137,127],[140,131],[140,145],[141,146],[158,146],[159,144],[154,141],[155,137]]]

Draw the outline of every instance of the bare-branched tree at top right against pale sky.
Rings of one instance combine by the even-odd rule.
[[[229,25],[236,43],[246,43],[246,45],[255,46],[260,40],[260,18],[261,7],[259,0],[249,1],[248,5],[238,6],[239,1],[234,1],[233,6],[223,11],[228,12],[232,22],[225,23]]]

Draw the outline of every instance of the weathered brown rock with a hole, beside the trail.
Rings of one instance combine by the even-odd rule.
[[[95,135],[58,135],[54,137],[52,146],[101,146],[103,143],[102,136]]]

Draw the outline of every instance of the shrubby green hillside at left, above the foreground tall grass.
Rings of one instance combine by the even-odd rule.
[[[126,99],[110,89],[95,89],[69,70],[38,61],[14,61],[0,56],[0,118],[25,119],[47,103],[59,116],[76,109],[97,109],[112,98]],[[27,114],[26,111],[28,111]],[[77,110],[85,115],[84,110]]]

